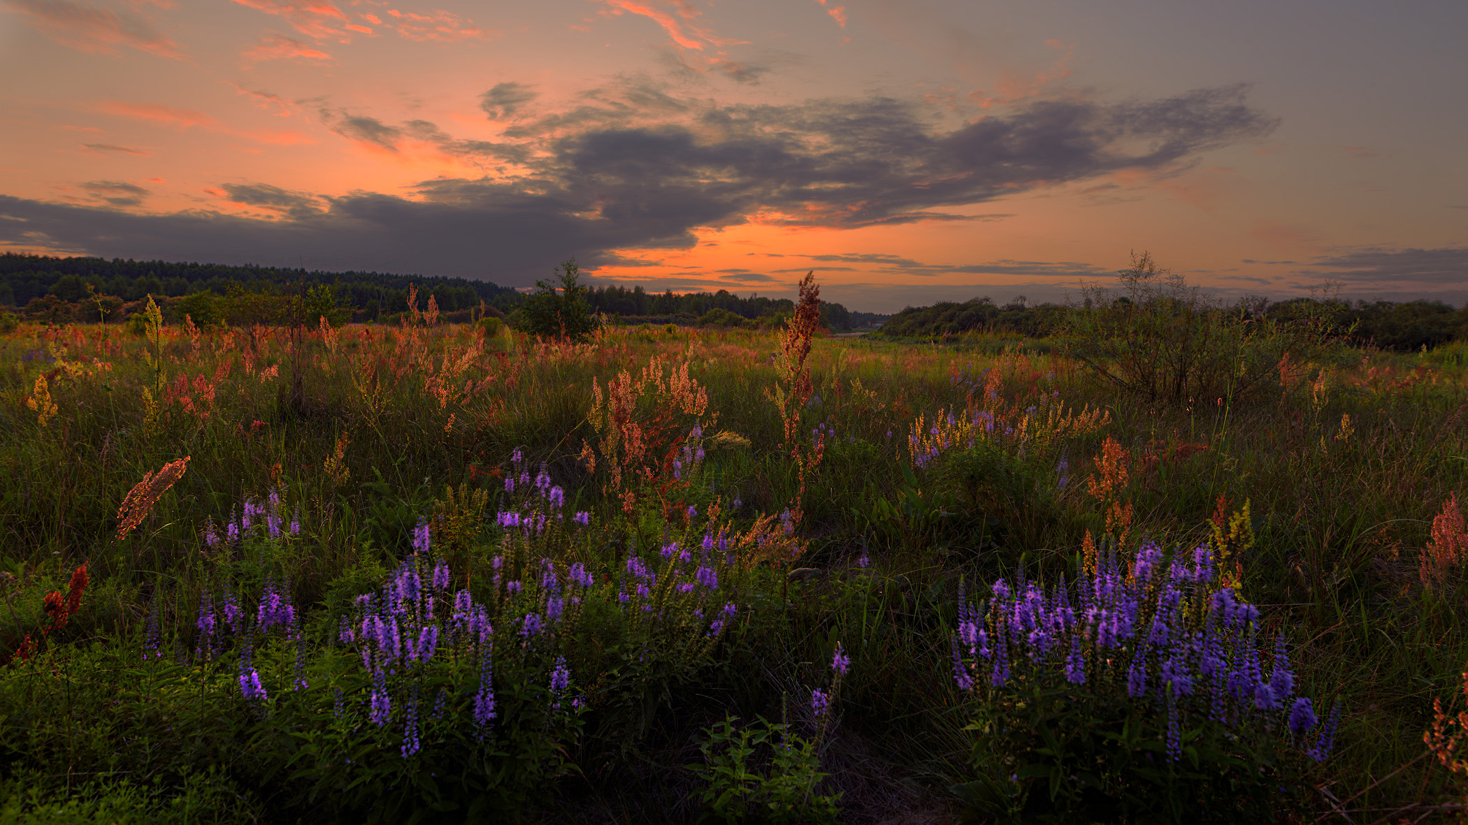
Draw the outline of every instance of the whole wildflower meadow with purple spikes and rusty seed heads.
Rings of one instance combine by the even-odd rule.
[[[0,333],[3,816],[1373,822],[1461,799],[1424,731],[1464,702],[1468,348],[1170,404],[1047,342],[809,332]],[[1148,584],[1164,564],[1183,584]],[[1108,571],[1135,615],[1180,593],[1193,653],[1161,619],[1078,631]],[[1058,624],[1025,630],[1029,597]],[[1208,693],[1220,599],[1277,708]],[[1157,688],[1166,650],[1195,690]]]

